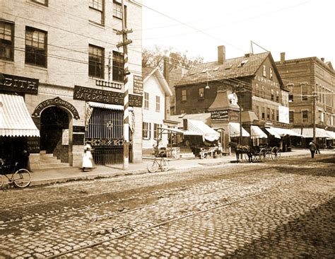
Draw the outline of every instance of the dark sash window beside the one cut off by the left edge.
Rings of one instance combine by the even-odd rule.
[[[25,27],[25,63],[47,67],[47,32]]]

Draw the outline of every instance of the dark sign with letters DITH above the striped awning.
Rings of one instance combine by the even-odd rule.
[[[23,76],[13,76],[11,74],[3,75],[4,79],[0,80],[0,90],[37,94],[38,79],[30,79],[29,77]]]

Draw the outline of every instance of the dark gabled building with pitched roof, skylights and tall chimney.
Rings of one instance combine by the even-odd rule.
[[[219,46],[218,61],[192,67],[175,86],[176,114],[211,112],[211,126],[226,129],[225,134],[230,132],[226,138],[229,139],[234,134],[227,125],[240,122],[233,92],[240,96],[242,125],[250,134],[252,125],[257,126],[253,129],[269,129],[276,138],[295,134],[288,121],[288,89],[270,52],[225,59],[225,47]],[[235,132],[240,135],[239,129]]]

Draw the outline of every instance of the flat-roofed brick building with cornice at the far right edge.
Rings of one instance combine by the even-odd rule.
[[[331,63],[317,57],[287,60],[283,52],[276,66],[290,90],[290,123],[304,137],[302,146],[312,139],[314,123],[317,142],[324,146],[335,131],[335,71]]]

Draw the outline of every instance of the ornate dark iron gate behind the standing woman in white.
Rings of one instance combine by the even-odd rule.
[[[123,110],[94,108],[86,127],[86,143],[94,149],[95,163],[123,163]],[[130,143],[129,161],[131,149]]]

